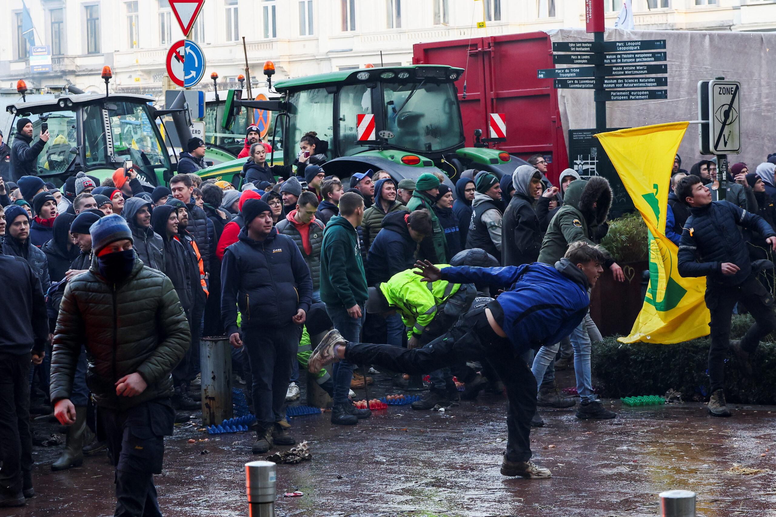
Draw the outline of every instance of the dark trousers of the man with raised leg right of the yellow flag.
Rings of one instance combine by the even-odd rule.
[[[773,295],[760,284],[754,274],[735,287],[709,281],[706,285],[705,301],[712,315],[712,321],[709,323],[712,344],[708,349],[708,377],[713,392],[721,390],[725,385],[725,356],[730,346],[730,317],[736,303],[743,304],[754,319],[753,326],[741,339],[741,348],[750,353],[757,349],[760,339],[776,328],[776,315],[773,311]]]

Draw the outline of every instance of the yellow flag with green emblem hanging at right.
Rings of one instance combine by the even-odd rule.
[[[676,244],[665,236],[670,171],[689,122],[596,135],[649,229],[650,287],[630,336],[622,343],[680,343],[706,336],[705,277],[683,278]]]

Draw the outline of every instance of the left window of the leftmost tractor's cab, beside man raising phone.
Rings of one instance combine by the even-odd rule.
[[[40,126],[44,119],[48,124],[49,140],[38,155],[40,174],[62,172],[68,168],[74,157],[70,153],[70,149],[78,145],[75,133],[75,113],[71,111],[49,112],[29,115],[27,118],[33,122],[33,142],[40,136]],[[13,136],[16,136],[16,121],[14,124],[12,126],[14,128]]]

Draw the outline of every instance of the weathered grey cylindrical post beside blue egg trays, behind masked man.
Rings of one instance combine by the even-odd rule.
[[[199,352],[202,369],[202,423],[217,426],[232,418],[232,346],[226,336],[203,337]]]

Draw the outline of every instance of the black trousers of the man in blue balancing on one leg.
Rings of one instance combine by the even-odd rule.
[[[485,308],[476,308],[456,322],[444,336],[427,346],[407,350],[392,345],[348,343],[345,360],[376,364],[393,371],[422,374],[443,367],[482,360],[490,364],[507,388],[507,451],[511,461],[531,458],[531,419],[536,411],[536,381],[508,341],[497,336],[487,322]]]

